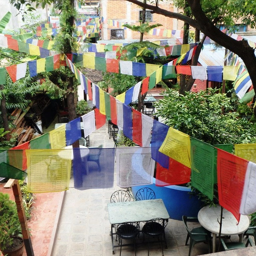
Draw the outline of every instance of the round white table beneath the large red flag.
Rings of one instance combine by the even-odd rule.
[[[221,206],[205,206],[198,212],[199,223],[212,232],[212,252],[216,251],[216,238],[219,234]],[[221,235],[239,235],[239,242],[243,241],[243,233],[248,229],[250,221],[246,215],[241,215],[239,224],[234,215],[223,208]]]

